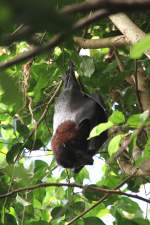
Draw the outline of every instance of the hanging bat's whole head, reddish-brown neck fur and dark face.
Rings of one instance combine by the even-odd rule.
[[[52,139],[52,148],[57,163],[64,168],[92,165],[93,159],[88,152],[88,134],[87,120],[79,126],[72,121],[62,123]]]

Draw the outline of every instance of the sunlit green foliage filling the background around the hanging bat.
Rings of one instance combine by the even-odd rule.
[[[1,1],[0,61],[12,59],[29,50],[32,44],[44,45],[55,33],[69,30],[73,22],[82,17],[81,14],[64,17],[57,13],[57,9],[79,2],[82,1]],[[138,21],[141,28],[146,26],[149,29],[148,13],[134,14],[131,17]],[[17,29],[22,24],[25,29],[29,26],[28,32],[17,36]],[[81,56],[80,49],[73,41],[73,35],[95,38],[108,37],[112,33],[112,24],[105,18],[101,19],[87,29],[69,34],[63,43],[43,55],[0,71],[0,224],[67,224],[96,204],[105,194],[88,187],[81,190],[63,185],[42,187],[42,184],[69,184],[73,181],[78,185],[92,184],[115,189],[126,175],[113,157],[128,137],[128,156],[132,156],[137,144],[144,150],[134,164],[140,166],[150,157],[150,137],[145,140],[143,136],[138,136],[138,129],[149,127],[149,114],[140,112],[135,87],[127,82],[127,78],[135,74],[135,62],[132,58],[140,57],[147,49],[149,36],[132,49],[131,55],[127,46],[116,50],[124,64],[124,71],[119,71],[115,55],[111,55],[112,49],[93,49],[89,50],[88,56]],[[16,38],[15,42],[11,38]],[[95,127],[89,138],[114,129],[101,153],[96,156],[106,163],[100,167],[101,170],[97,168],[97,175],[100,173],[101,178],[94,185],[93,180],[91,181],[94,165],[85,167],[76,175],[72,171],[57,168],[49,147],[53,129],[52,96],[70,59],[74,61],[86,89],[102,96],[109,115],[108,122]],[[149,79],[149,61],[144,56],[140,63],[141,61]],[[102,160],[99,162],[102,163]],[[107,164],[108,161],[110,163]],[[94,176],[96,174],[92,172],[92,177]],[[131,178],[123,186],[123,191],[138,192],[140,185],[147,181],[148,178]],[[29,191],[28,188],[34,185],[41,187]],[[1,196],[24,187],[27,188],[26,191],[18,191],[5,198]],[[147,225],[148,218],[144,218],[139,205],[131,198],[109,195],[83,217],[79,216],[74,224],[103,225],[104,217],[109,218],[111,215],[115,225]]]

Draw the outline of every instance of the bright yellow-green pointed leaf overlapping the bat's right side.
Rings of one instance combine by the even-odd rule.
[[[89,138],[93,138],[96,137],[98,135],[100,135],[102,132],[104,132],[105,130],[108,130],[109,128],[111,128],[113,126],[113,123],[111,121],[108,121],[106,123],[100,123],[99,125],[97,125],[96,127],[94,127],[89,135]]]

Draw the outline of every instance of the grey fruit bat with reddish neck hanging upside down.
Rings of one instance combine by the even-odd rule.
[[[63,90],[55,102],[51,146],[57,163],[77,173],[93,164],[93,156],[106,141],[106,131],[88,137],[92,128],[107,121],[107,113],[97,94],[84,91],[72,63],[63,80]]]

